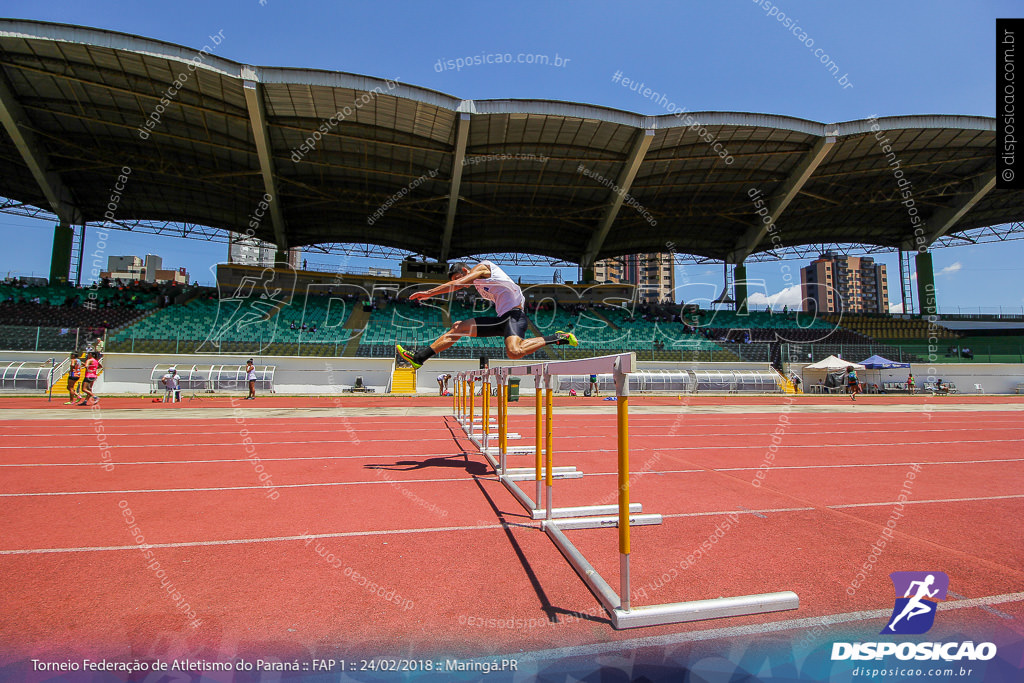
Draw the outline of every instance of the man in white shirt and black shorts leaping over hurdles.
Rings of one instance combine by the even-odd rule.
[[[458,321],[452,329],[437,338],[430,346],[415,353],[395,345],[398,357],[413,368],[420,368],[429,358],[453,346],[463,337],[504,337],[505,350],[513,360],[529,355],[548,344],[568,344],[578,346],[579,341],[569,332],[556,332],[548,337],[526,339],[528,321],[523,305],[526,302],[522,290],[504,270],[490,261],[480,261],[472,268],[465,263],[453,263],[449,268],[449,283],[438,285],[426,292],[416,292],[409,297],[412,301],[429,299],[438,294],[447,294],[472,285],[487,301],[495,304],[496,315]]]

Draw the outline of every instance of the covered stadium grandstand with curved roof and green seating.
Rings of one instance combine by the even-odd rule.
[[[1024,362],[1024,314],[939,315],[936,305],[932,250],[1024,237],[1024,196],[995,186],[991,118],[693,114],[699,130],[727,143],[732,162],[723,163],[673,116],[462,99],[196,54],[139,36],[0,20],[0,210],[56,223],[47,284],[0,287],[4,349],[80,350],[98,334],[113,354],[387,361],[396,343],[423,345],[485,314],[486,302],[466,293],[409,296],[443,280],[450,261],[489,258],[579,267],[574,285],[524,287],[532,335],[567,330],[585,341],[546,348],[545,358],[635,351],[650,364],[785,373],[829,355]],[[159,115],[140,118],[158,111],[178,72],[197,76]],[[907,220],[879,134],[913,169],[927,229]],[[224,264],[212,289],[96,282],[85,236],[110,229],[245,232],[275,245],[276,266]],[[667,245],[678,262],[724,264],[722,295],[642,303],[634,288],[594,281],[598,260]],[[397,278],[307,270],[289,261],[296,248],[421,268]],[[749,305],[746,263],[825,249],[900,252],[906,312]],[[503,359],[501,340],[465,339],[439,358],[481,356]],[[429,378],[419,386],[432,388]]]

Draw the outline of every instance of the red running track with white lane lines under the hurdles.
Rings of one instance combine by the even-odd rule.
[[[611,407],[593,408],[600,414],[556,418],[555,464],[586,473],[556,482],[556,506],[614,502]],[[942,570],[957,594],[997,599],[988,610],[950,611],[942,628],[1021,635],[1024,595],[1013,597],[1024,593],[1018,415],[634,415],[632,500],[665,516],[633,529],[636,602],[801,596],[797,612],[642,635],[726,625],[756,632],[886,610],[888,574],[905,569]],[[5,656],[154,656],[172,642],[194,655],[480,656],[641,635],[610,628],[450,418],[247,417],[239,425],[147,411],[102,421],[110,471],[100,468],[95,427],[0,423],[0,567],[8,578],[0,601],[16,625],[5,631]],[[513,415],[511,428],[525,437],[515,444],[532,442],[529,416]],[[532,461],[510,457],[512,466]],[[892,542],[851,590],[901,493]],[[152,558],[133,535],[153,544]],[[615,531],[569,535],[617,586]],[[868,630],[878,633],[878,621]]]

